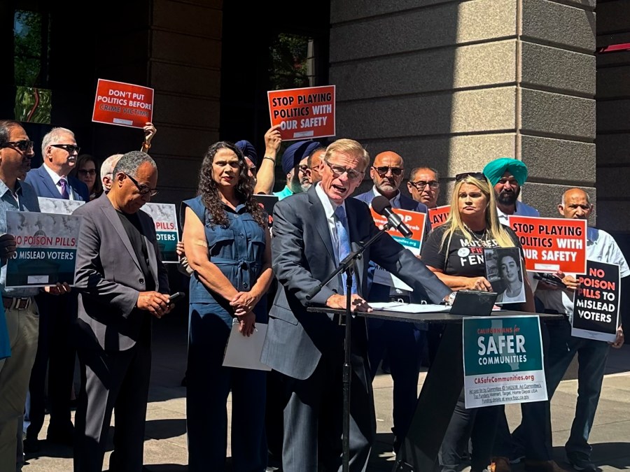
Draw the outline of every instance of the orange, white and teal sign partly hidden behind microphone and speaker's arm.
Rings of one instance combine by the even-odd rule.
[[[374,218],[374,223],[377,227],[381,228],[387,223],[387,217],[379,215],[370,206],[370,210],[372,211],[372,217]],[[401,210],[400,208],[392,208],[393,213],[400,215],[400,219],[403,223],[407,225],[409,231],[412,231],[411,238],[405,238],[402,236],[398,229],[388,229],[386,232],[395,241],[402,244],[414,253],[414,255],[420,255],[420,248],[422,246],[422,238],[424,236],[424,224],[426,222],[426,213],[419,213],[417,211],[411,210]],[[378,244],[376,241],[374,244]],[[391,275],[388,271],[381,269],[380,266],[376,267],[374,270],[374,283],[379,283],[381,285],[389,285],[390,287],[396,287],[399,289],[413,291],[412,287],[409,287],[406,283],[402,282],[398,277]]]

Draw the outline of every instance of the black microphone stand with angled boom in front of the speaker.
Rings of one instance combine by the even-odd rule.
[[[356,251],[350,252],[349,255],[339,262],[337,269],[332,271],[328,277],[323,280],[317,287],[312,289],[306,296],[307,300],[311,300],[316,294],[318,294],[322,287],[336,277],[340,272],[346,273],[346,314],[345,324],[346,331],[344,337],[344,369],[343,369],[343,382],[344,382],[344,421],[343,421],[343,434],[342,434],[342,450],[343,450],[343,472],[350,471],[350,379],[352,376],[352,369],[350,366],[350,327],[351,327],[351,313],[352,313],[352,277],[355,269],[356,260],[360,259],[363,252],[376,241],[381,234],[387,229],[390,229],[391,225],[386,223],[383,229],[380,229],[374,236],[367,240],[365,243],[359,243]]]

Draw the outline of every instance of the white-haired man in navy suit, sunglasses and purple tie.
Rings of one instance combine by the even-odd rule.
[[[50,199],[89,201],[87,186],[68,176],[76,165],[80,148],[74,133],[65,128],[53,128],[43,137],[43,164],[27,173],[37,196]],[[71,343],[71,326],[76,317],[76,295],[36,296],[40,308],[39,340],[35,364],[29,382],[30,408],[25,451],[38,449],[37,436],[45,416],[45,376],[48,366],[48,403],[50,424],[46,439],[50,443],[71,446],[73,424],[70,414],[70,395],[74,376],[76,351]]]

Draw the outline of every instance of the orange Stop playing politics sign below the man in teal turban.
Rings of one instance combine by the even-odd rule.
[[[525,252],[525,269],[535,272],[586,271],[587,220],[508,217]]]

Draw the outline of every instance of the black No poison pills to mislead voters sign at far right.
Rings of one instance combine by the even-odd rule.
[[[587,261],[587,271],[577,276],[580,288],[573,296],[571,336],[609,341],[617,338],[621,284],[619,266]]]

